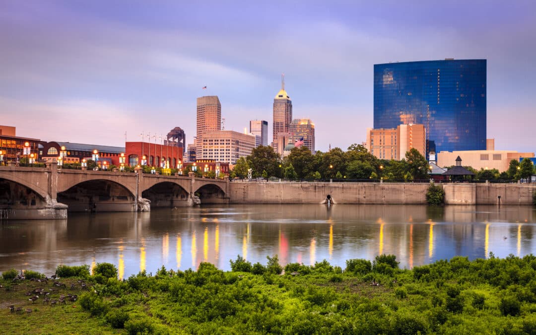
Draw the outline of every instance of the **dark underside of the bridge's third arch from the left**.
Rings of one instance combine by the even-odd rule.
[[[180,184],[160,182],[142,192],[142,197],[151,200],[151,207],[187,206],[189,194]]]

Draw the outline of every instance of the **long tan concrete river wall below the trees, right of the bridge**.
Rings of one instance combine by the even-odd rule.
[[[536,184],[439,183],[448,205],[532,205]],[[426,204],[428,183],[229,183],[231,204]],[[500,196],[500,198],[498,198]]]

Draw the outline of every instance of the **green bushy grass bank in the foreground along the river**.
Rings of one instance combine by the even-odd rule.
[[[125,281],[106,263],[93,276],[87,266],[59,267],[62,278],[47,282],[9,275],[0,281],[0,324],[3,333],[536,333],[532,255],[455,257],[412,270],[389,255],[348,260],[344,271],[325,261],[282,269],[277,257],[231,265]],[[35,289],[49,294],[32,302],[26,294]],[[43,303],[62,295],[77,299]]]

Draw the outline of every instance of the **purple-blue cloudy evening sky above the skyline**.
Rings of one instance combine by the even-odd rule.
[[[346,149],[373,126],[374,64],[485,58],[487,137],[534,152],[534,41],[533,1],[0,0],[0,124],[114,146],[180,126],[192,143],[196,98],[218,95],[226,130],[267,120],[271,141],[284,72],[316,150]]]

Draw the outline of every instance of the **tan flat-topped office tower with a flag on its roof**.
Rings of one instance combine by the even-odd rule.
[[[221,103],[217,95],[197,98],[197,134],[194,144],[200,151],[200,141],[207,131],[221,130]]]

